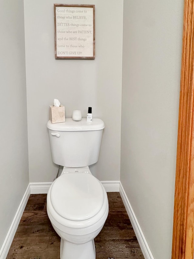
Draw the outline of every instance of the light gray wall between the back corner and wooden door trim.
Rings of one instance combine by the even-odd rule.
[[[121,183],[155,259],[171,258],[183,2],[124,0]]]

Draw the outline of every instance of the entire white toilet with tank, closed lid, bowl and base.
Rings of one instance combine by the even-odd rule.
[[[104,226],[109,203],[89,165],[98,161],[104,127],[101,119],[47,123],[52,160],[63,166],[47,194],[47,213],[61,237],[60,259],[96,258],[94,238]]]

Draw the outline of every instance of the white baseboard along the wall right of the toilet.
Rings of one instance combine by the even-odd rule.
[[[133,227],[133,230],[135,231],[135,235],[137,237],[137,240],[139,242],[139,245],[141,247],[141,250],[142,250],[142,253],[145,257],[145,259],[154,259],[153,255],[152,255],[152,252],[149,248],[149,245],[146,241],[146,238],[141,230],[141,227],[138,223],[138,220],[135,216],[135,213],[132,209],[132,206],[129,202],[129,199],[127,198],[127,195],[125,193],[125,190],[123,189],[123,186],[120,182],[120,187],[119,187],[119,193],[121,195],[121,198],[122,198],[122,201],[125,205],[125,209],[127,211],[127,214],[129,216],[129,219],[131,221],[131,224],[132,224],[132,227]]]

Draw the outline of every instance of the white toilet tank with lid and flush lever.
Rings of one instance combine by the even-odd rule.
[[[101,119],[92,122],[73,121],[51,123],[48,121],[52,160],[65,167],[84,167],[95,164],[99,158],[102,131]]]

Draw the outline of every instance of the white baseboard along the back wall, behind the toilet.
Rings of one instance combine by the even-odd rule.
[[[106,192],[119,192],[120,181],[101,181]],[[30,193],[48,193],[52,182],[30,182]]]

